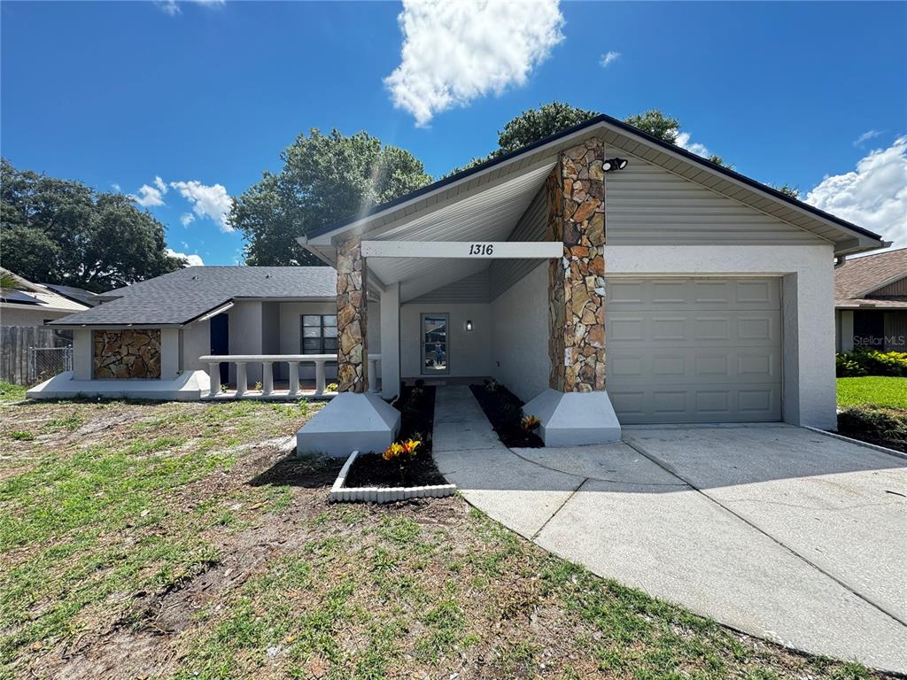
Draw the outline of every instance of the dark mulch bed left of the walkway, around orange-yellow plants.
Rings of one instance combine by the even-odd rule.
[[[422,442],[414,459],[399,465],[385,461],[383,452],[360,453],[346,474],[346,487],[412,487],[447,483],[432,457],[434,387],[404,386],[394,406],[400,411],[397,441],[415,439]]]

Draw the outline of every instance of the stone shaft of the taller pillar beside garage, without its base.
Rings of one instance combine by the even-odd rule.
[[[546,238],[564,255],[549,265],[550,385],[561,392],[605,389],[604,144],[562,151],[546,180]]]

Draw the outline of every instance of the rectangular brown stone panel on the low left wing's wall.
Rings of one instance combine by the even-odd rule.
[[[160,378],[161,330],[93,331],[93,377]]]

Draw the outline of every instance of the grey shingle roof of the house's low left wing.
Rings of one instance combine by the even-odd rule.
[[[184,325],[237,298],[334,298],[331,267],[186,267],[105,293],[53,325]]]

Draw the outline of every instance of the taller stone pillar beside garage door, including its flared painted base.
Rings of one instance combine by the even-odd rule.
[[[605,160],[590,139],[561,151],[545,183],[547,239],[563,244],[548,269],[549,388],[522,411],[546,446],[617,442],[620,423],[605,391]]]

